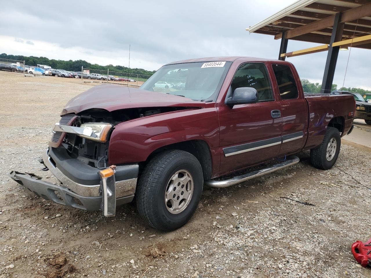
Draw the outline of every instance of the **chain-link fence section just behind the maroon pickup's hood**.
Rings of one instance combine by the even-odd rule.
[[[150,78],[150,75],[139,75],[136,73],[117,72],[107,70],[81,68],[84,79],[101,80],[107,83],[122,84],[131,87],[140,87]]]

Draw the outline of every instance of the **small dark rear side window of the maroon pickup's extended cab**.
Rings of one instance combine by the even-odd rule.
[[[299,96],[298,87],[294,75],[289,66],[284,64],[272,64],[275,73],[279,93],[282,99],[297,99]]]

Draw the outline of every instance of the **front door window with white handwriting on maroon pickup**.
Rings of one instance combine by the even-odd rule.
[[[257,90],[259,101],[274,100],[268,72],[263,63],[242,64],[232,80],[232,91],[240,87],[252,87]]]

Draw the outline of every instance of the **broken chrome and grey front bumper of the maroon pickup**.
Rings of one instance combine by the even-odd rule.
[[[62,185],[43,181],[39,176],[29,173],[12,171],[10,177],[43,199],[88,211],[102,210],[99,169],[71,158],[63,148],[48,148],[42,158],[46,168]],[[115,187],[116,205],[134,199],[138,170],[137,164],[116,167],[111,185]]]

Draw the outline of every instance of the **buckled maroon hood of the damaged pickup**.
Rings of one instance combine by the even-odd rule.
[[[187,97],[150,92],[122,85],[99,85],[69,100],[60,115],[77,114],[93,108],[112,112],[114,110],[141,107],[204,107],[205,104]]]

